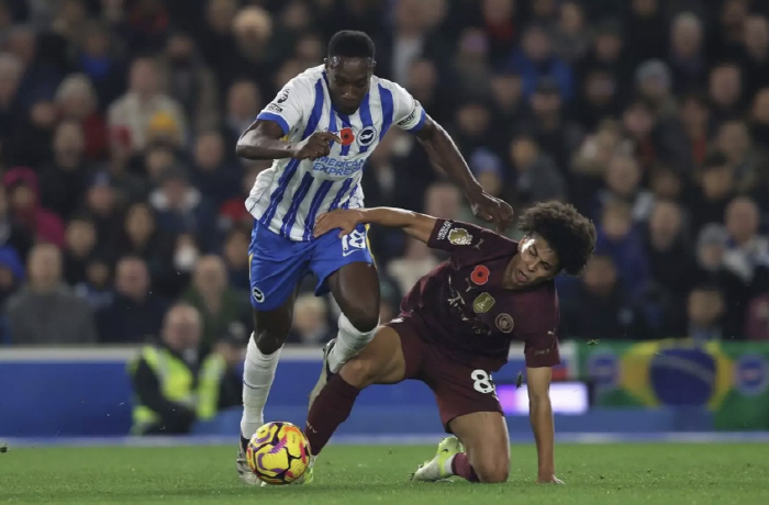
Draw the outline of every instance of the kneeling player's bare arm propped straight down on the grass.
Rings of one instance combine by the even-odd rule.
[[[556,476],[555,428],[550,405],[551,367],[526,368],[528,417],[537,444],[537,482],[562,484]]]

